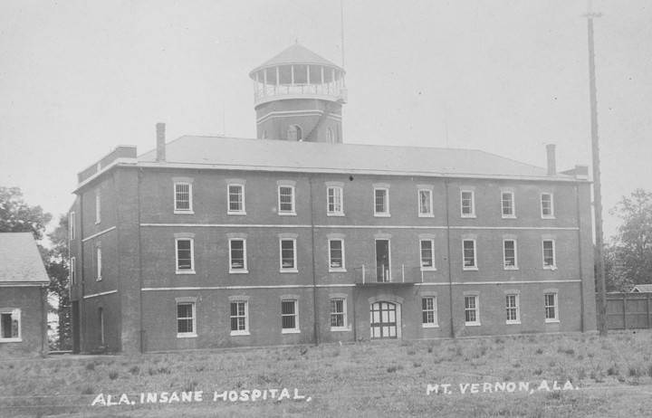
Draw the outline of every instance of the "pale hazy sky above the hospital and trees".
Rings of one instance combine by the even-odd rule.
[[[299,42],[347,71],[345,143],[590,165],[586,0],[0,2],[0,185],[67,212],[118,145],[255,138],[248,73]],[[594,0],[605,234],[652,191],[652,4]]]

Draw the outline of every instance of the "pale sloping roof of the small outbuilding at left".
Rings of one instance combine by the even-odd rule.
[[[32,233],[0,233],[0,286],[49,281]]]

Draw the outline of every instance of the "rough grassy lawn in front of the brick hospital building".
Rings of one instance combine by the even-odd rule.
[[[650,416],[652,332],[0,359],[0,416],[51,415]]]

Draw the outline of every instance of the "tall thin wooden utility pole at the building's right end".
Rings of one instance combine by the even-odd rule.
[[[600,192],[599,171],[599,139],[598,139],[598,99],[596,95],[595,80],[595,49],[593,46],[593,18],[602,14],[593,13],[589,0],[589,10],[586,14],[587,29],[589,31],[589,91],[590,91],[590,124],[591,124],[591,154],[593,160],[593,212],[595,214],[595,257],[598,262],[598,330],[600,336],[607,335],[607,290],[604,273],[604,237],[602,233],[602,194]]]

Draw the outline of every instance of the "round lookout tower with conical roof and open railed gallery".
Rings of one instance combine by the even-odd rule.
[[[342,142],[344,70],[299,43],[249,73],[258,138]]]

